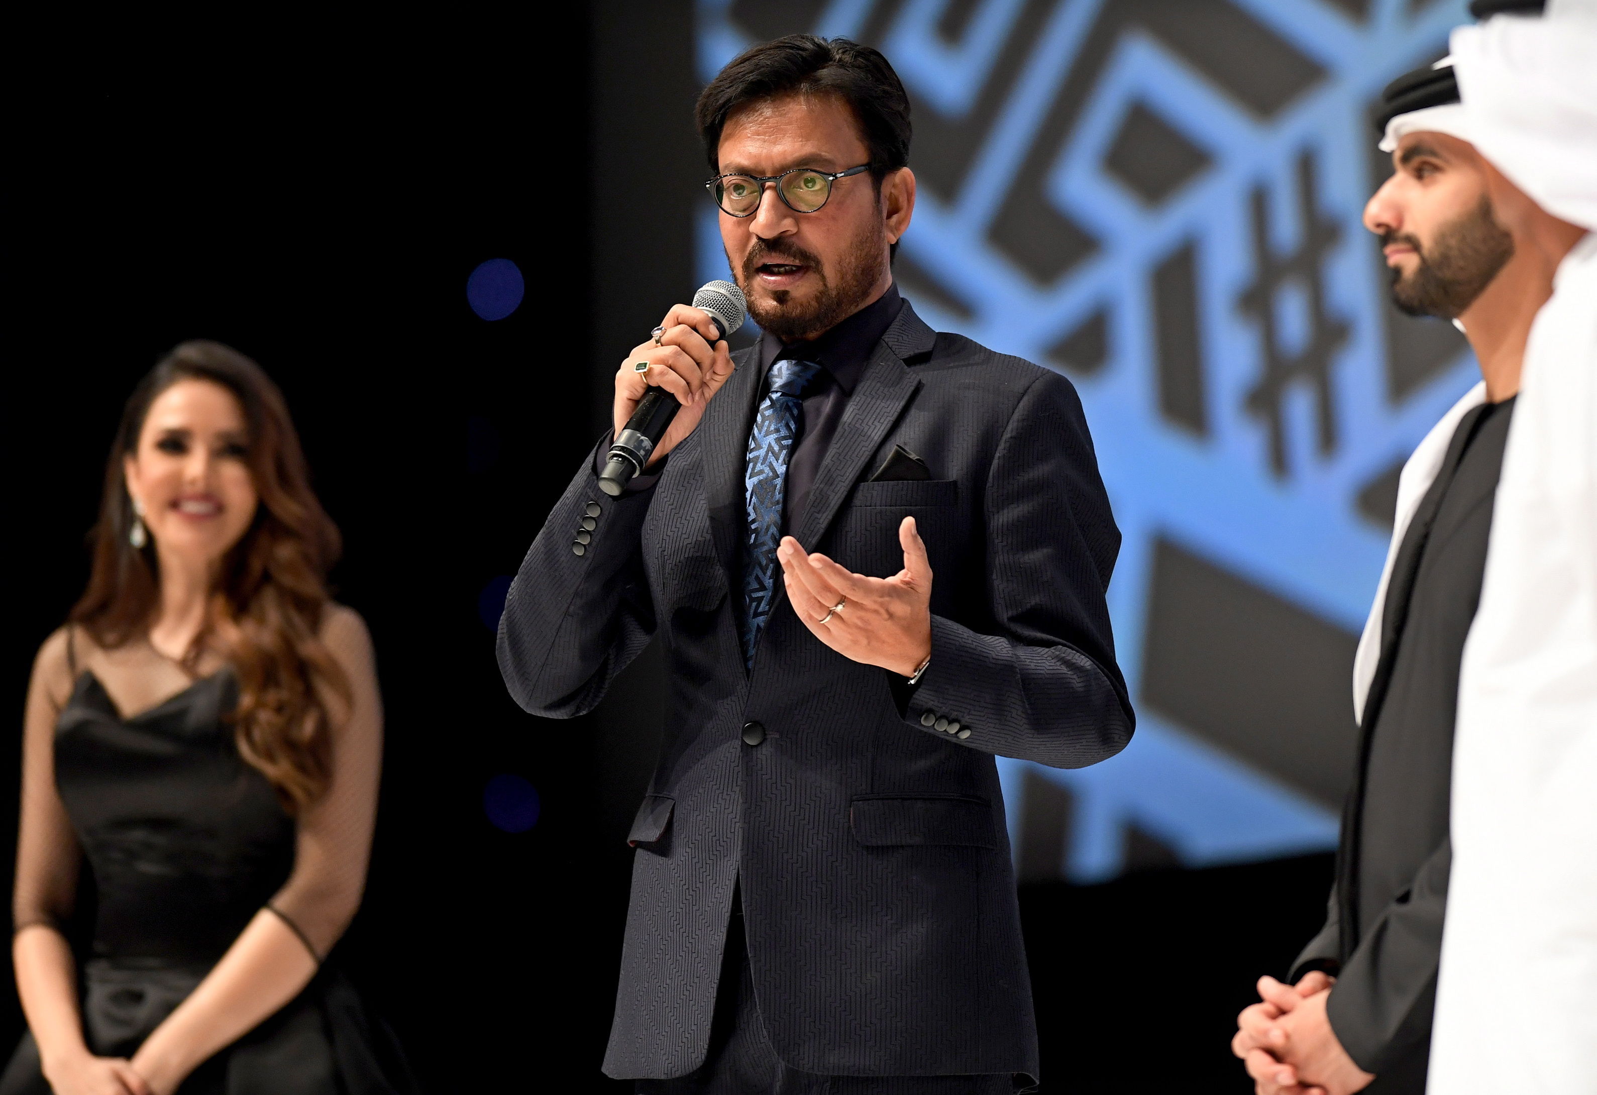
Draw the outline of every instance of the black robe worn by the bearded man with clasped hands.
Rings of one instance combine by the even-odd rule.
[[[1452,868],[1448,798],[1464,640],[1514,401],[1464,415],[1404,535],[1381,616],[1359,771],[1326,931],[1300,967],[1338,967],[1329,1017],[1370,1092],[1423,1092]]]

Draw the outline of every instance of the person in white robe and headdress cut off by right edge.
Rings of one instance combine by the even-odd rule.
[[[1591,231],[1530,330],[1464,650],[1429,1090],[1597,1092],[1597,0],[1452,51],[1480,155]]]

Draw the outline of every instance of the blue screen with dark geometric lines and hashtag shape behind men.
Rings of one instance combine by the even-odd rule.
[[[1177,26],[1183,6],[1209,13],[1199,35]],[[775,26],[778,10],[802,11],[805,26]],[[893,61],[915,101],[921,177],[901,287],[934,329],[1062,369],[1081,393],[1124,533],[1110,610],[1140,698],[1161,544],[1337,634],[1362,627],[1389,533],[1361,516],[1361,492],[1474,375],[1468,350],[1452,346],[1421,377],[1393,380],[1404,362],[1361,223],[1377,182],[1367,112],[1466,19],[1463,0],[699,0],[696,42],[701,80],[792,30],[856,37]],[[1226,34],[1300,57],[1311,77],[1250,101],[1241,77],[1273,70],[1228,80],[1204,53]],[[1060,117],[1068,125],[1051,128]],[[963,134],[965,160],[933,185],[939,132]],[[1187,166],[1139,174],[1139,134],[1180,148],[1172,163]],[[1049,220],[1073,225],[1059,236],[1078,241],[1068,255],[1041,247]],[[727,276],[709,203],[698,239],[699,276]],[[1195,338],[1161,343],[1159,286],[1188,302]],[[1100,348],[1081,369],[1060,351],[1076,330]],[[1119,757],[1000,769],[1017,848],[1027,789],[1041,779],[1068,792],[1059,872],[1078,881],[1124,870],[1129,833],[1193,867],[1335,844],[1332,803],[1140,699]]]

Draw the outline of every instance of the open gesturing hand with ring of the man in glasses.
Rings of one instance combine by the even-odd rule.
[[[915,519],[899,524],[904,570],[891,578],[854,575],[783,536],[787,600],[822,643],[858,662],[910,677],[931,654],[931,562]],[[834,611],[834,607],[842,605]]]

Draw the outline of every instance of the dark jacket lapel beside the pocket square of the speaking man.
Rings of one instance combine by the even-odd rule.
[[[936,335],[928,327],[909,302],[899,311],[893,326],[882,335],[875,354],[866,367],[859,386],[848,399],[843,421],[837,425],[826,458],[816,472],[814,485],[810,487],[810,500],[805,512],[798,519],[794,536],[805,551],[814,551],[826,535],[827,527],[837,516],[843,498],[853,490],[888,431],[898,421],[904,404],[920,388],[920,380],[910,372],[905,361],[915,361],[931,353]]]

